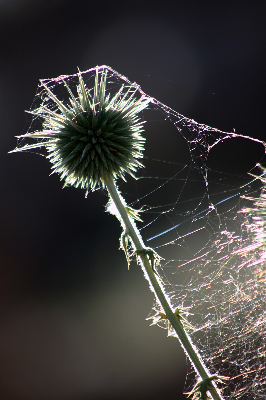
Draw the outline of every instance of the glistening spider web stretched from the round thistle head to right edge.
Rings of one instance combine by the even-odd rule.
[[[108,71],[107,91],[124,84],[143,94],[111,68],[97,68]],[[95,68],[82,76],[93,88]],[[56,110],[43,83],[68,102],[64,81],[75,93],[77,74],[40,81],[32,110],[40,104]],[[220,387],[224,398],[265,399],[266,208],[264,170],[258,163],[263,163],[266,145],[198,124],[156,99],[143,119],[145,168],[137,180],[119,180],[119,190],[127,204],[142,210],[138,226],[143,239],[164,258],[157,268],[166,292],[173,309],[187,308],[193,326],[188,333],[209,372],[230,377]],[[34,117],[29,132],[37,125]],[[24,139],[18,142],[19,148],[24,145]],[[254,206],[256,199],[262,206]],[[156,303],[154,309],[160,310]],[[194,384],[190,370],[185,391]]]

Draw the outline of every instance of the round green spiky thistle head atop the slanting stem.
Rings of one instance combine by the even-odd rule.
[[[147,107],[150,99],[144,95],[136,98],[137,89],[133,86],[121,86],[113,96],[107,94],[105,69],[100,82],[96,69],[93,90],[87,90],[81,72],[78,78],[77,96],[63,79],[69,94],[67,104],[42,83],[46,102],[49,96],[56,108],[43,102],[39,108],[30,111],[42,118],[43,129],[18,136],[41,138],[42,142],[14,151],[45,146],[53,173],[60,174],[64,186],[81,186],[88,192],[96,185],[104,186],[107,176],[125,180],[125,173],[134,176],[133,172],[143,166],[139,159],[143,157],[145,139],[141,136],[144,129],[138,114]]]

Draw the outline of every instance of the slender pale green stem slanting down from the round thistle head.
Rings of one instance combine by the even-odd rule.
[[[105,186],[109,192],[109,196],[111,200],[113,200],[113,203],[115,204],[117,211],[120,214],[121,220],[125,224],[125,232],[129,235],[129,238],[131,240],[131,243],[135,250],[143,250],[145,249],[145,246],[143,244],[141,235],[139,234],[139,231],[137,230],[135,223],[131,218],[129,218],[127,211],[125,210],[125,205],[122,202],[122,198],[117,190],[117,187],[115,186],[115,183],[113,181],[113,178],[111,176],[105,178]],[[197,370],[199,376],[203,379],[209,378],[210,374],[208,373],[207,368],[204,366],[204,363],[202,362],[199,353],[195,349],[195,346],[193,345],[191,338],[185,331],[184,326],[180,322],[179,318],[177,318],[165,296],[163,286],[161,282],[157,280],[157,277],[155,273],[153,272],[151,268],[151,263],[149,262],[149,258],[147,256],[139,256],[141,258],[141,262],[143,264],[143,267],[147,273],[147,276],[149,278],[149,282],[151,286],[153,287],[153,290],[155,292],[155,295],[161,304],[171,326],[177,333],[177,336],[179,337],[179,340],[181,344],[183,345],[185,352],[187,353],[187,356],[191,360],[191,363]],[[212,398],[214,400],[223,400],[221,397],[220,393],[218,390],[216,390],[215,387],[213,389],[209,390]]]

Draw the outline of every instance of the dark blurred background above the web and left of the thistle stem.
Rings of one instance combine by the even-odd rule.
[[[40,78],[97,64],[189,118],[263,139],[265,12],[260,1],[0,1],[1,399],[185,398],[185,355],[145,321],[153,295],[118,251],[106,195],[62,190],[45,158],[7,152]]]

